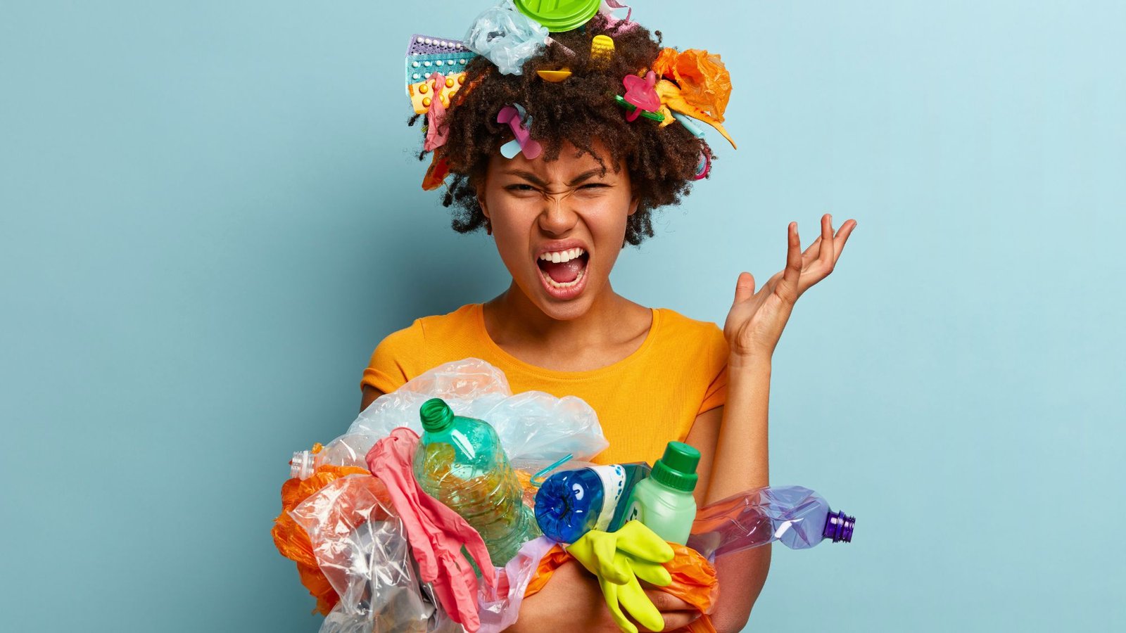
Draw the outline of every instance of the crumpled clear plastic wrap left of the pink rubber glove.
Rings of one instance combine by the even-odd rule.
[[[402,523],[370,474],[330,482],[289,515],[307,534],[340,601],[322,633],[425,633],[434,614],[419,589]]]

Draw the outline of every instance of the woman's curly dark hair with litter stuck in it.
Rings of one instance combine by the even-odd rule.
[[[609,61],[591,59],[590,43],[596,35],[614,39]],[[524,63],[522,74],[501,74],[485,57],[465,66],[465,87],[454,95],[441,122],[448,137],[437,151],[450,171],[443,205],[453,207],[453,228],[459,233],[485,225],[475,185],[483,182],[490,158],[512,139],[509,126],[497,123],[497,114],[504,106],[520,104],[531,116],[531,136],[543,144],[544,160],[556,160],[564,143],[570,143],[605,169],[606,162],[593,146],[599,140],[609,151],[615,171],[625,161],[638,198],[637,212],[626,224],[625,241],[637,246],[653,235],[653,211],[680,204],[681,196],[688,195],[700,153],[715,157],[707,143],[682,125],[660,127],[645,117],[628,122],[626,112],[615,102],[615,96],[624,91],[623,78],[649,69],[656,60],[660,32],[651,34],[636,23],[611,24],[596,14],[583,27],[553,33],[552,39]],[[571,69],[572,74],[561,82],[536,74],[562,68]],[[414,116],[410,123],[417,119]],[[423,151],[419,159],[426,154]]]

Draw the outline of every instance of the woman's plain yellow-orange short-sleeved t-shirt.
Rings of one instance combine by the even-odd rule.
[[[598,413],[610,447],[602,464],[654,463],[664,445],[688,437],[696,416],[723,405],[727,395],[727,342],[715,323],[653,309],[653,324],[636,351],[587,372],[556,372],[517,359],[485,330],[480,303],[425,316],[375,348],[360,385],[390,393],[438,365],[480,358],[508,377],[512,393],[575,395]]]

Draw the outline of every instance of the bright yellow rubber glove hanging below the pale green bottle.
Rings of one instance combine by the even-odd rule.
[[[660,631],[664,618],[645,595],[637,579],[664,587],[672,582],[661,563],[672,560],[672,547],[638,520],[614,533],[592,529],[568,547],[587,571],[598,577],[606,606],[618,628],[637,633],[623,607],[642,626]]]

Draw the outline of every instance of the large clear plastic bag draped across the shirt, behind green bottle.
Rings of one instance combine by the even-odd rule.
[[[511,462],[549,464],[571,455],[589,461],[609,443],[595,410],[580,398],[555,398],[528,391],[512,395],[504,373],[484,360],[465,358],[439,365],[392,393],[381,395],[348,433],[322,451],[323,463],[364,465],[364,455],[397,427],[419,435],[419,409],[431,398],[441,398],[457,416],[485,420],[500,437]]]

